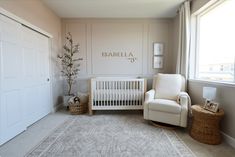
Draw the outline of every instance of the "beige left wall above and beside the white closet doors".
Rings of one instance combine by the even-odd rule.
[[[61,51],[61,19],[48,9],[40,0],[0,0],[0,7],[30,22],[53,35],[51,40],[51,72],[53,104],[56,107],[58,97],[63,93],[60,71],[56,56]]]

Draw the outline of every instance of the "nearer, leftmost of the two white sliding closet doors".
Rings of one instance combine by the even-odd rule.
[[[25,130],[22,100],[21,25],[0,16],[0,144]]]

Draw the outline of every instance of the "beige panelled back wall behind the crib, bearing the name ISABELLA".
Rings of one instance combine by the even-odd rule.
[[[80,44],[80,85],[78,90],[87,91],[85,83],[95,76],[151,77],[158,72],[172,73],[172,19],[63,19],[63,35],[71,32]],[[164,44],[164,67],[153,69],[153,43]],[[102,56],[103,52],[126,53],[125,56]],[[119,55],[121,55],[119,53]],[[151,81],[149,81],[149,86]]]

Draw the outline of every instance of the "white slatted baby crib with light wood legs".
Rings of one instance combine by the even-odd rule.
[[[143,78],[97,77],[91,79],[90,87],[90,114],[93,110],[143,109]]]

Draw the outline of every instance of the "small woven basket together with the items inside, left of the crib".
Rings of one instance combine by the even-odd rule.
[[[82,114],[87,112],[87,104],[80,102],[79,97],[72,97],[69,100],[69,111],[71,114]]]

